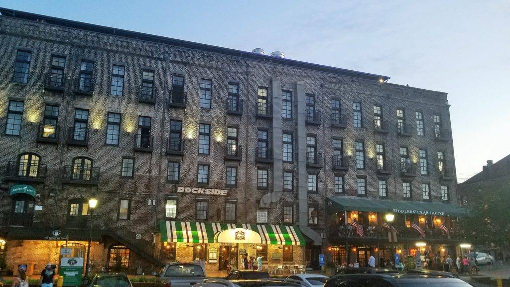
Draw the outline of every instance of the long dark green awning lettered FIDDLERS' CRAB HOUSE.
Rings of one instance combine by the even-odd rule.
[[[327,197],[329,213],[341,210],[392,212],[403,214],[424,214],[437,216],[467,216],[465,208],[456,204],[420,201],[396,201],[384,199],[368,199],[358,197]]]

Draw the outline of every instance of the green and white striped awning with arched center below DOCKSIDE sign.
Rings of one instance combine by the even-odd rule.
[[[250,236],[251,242],[257,244],[305,245],[305,238],[298,227],[289,225],[230,224],[212,222],[162,221],[160,223],[161,242],[187,243],[243,243],[236,240],[236,235],[218,236],[222,231],[241,231]],[[221,238],[218,241],[218,238]],[[243,239],[244,240],[244,239]],[[256,241],[256,242],[253,242]]]

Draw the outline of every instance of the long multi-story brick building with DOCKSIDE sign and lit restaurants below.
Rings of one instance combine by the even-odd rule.
[[[84,257],[89,237],[94,270],[197,257],[222,270],[242,254],[316,267],[321,252],[363,264],[416,252],[413,221],[422,251],[455,249],[445,93],[281,52],[0,12],[10,268]]]

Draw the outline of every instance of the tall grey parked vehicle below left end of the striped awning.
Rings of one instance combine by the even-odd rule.
[[[157,276],[164,287],[190,287],[206,279],[206,270],[198,263],[175,262],[163,267]]]

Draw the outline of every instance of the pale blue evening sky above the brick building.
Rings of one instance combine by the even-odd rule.
[[[510,154],[510,1],[24,1],[0,7],[448,93],[458,182]]]

